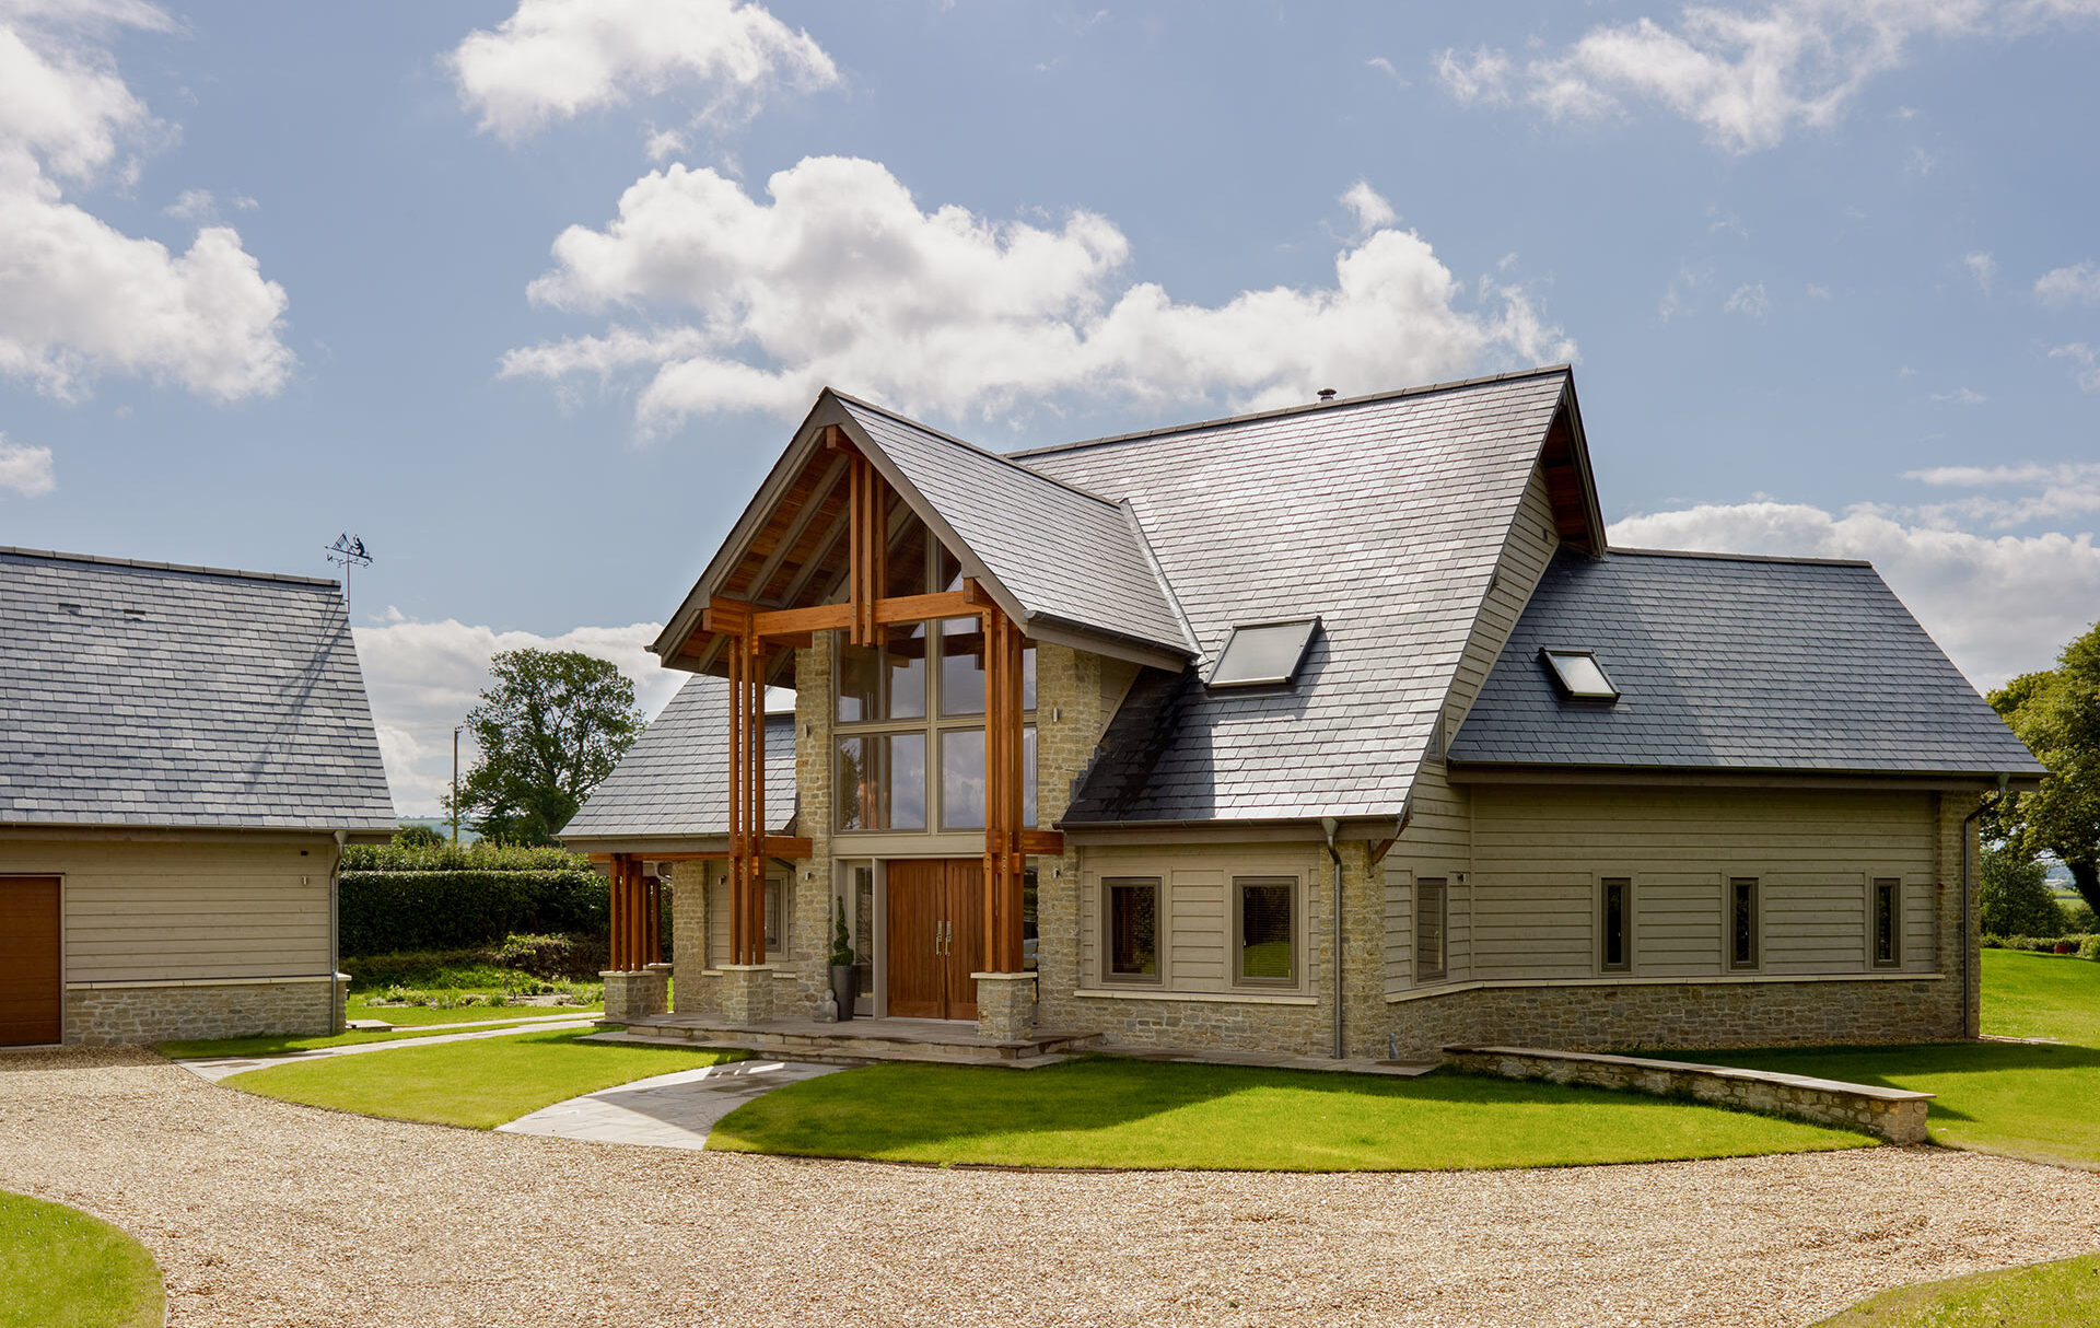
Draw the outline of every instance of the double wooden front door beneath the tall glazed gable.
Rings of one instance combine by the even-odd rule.
[[[979,857],[888,864],[890,1015],[976,1019],[985,967],[985,864]]]

